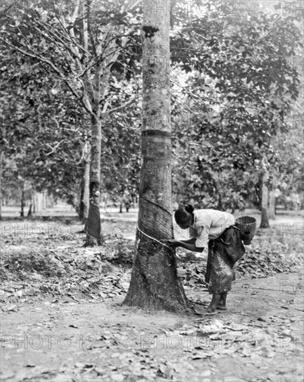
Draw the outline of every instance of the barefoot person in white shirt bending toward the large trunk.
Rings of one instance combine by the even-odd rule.
[[[188,205],[175,211],[175,220],[181,229],[190,229],[191,239],[167,240],[170,245],[195,252],[208,246],[205,280],[213,296],[207,314],[226,310],[227,292],[235,280],[234,263],[245,253],[234,216],[218,210],[194,210]]]

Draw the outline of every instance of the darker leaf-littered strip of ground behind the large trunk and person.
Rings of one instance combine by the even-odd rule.
[[[70,230],[72,232],[73,230]],[[0,298],[33,301],[37,296],[74,301],[111,299],[127,292],[134,242],[122,235],[104,235],[102,247],[83,248],[84,235],[6,235],[2,244]],[[236,266],[237,277],[266,277],[292,272],[301,264],[300,238],[282,237],[278,229],[258,230],[253,244]],[[185,288],[206,291],[207,255],[177,249],[179,276]],[[193,301],[205,305],[200,299]],[[200,314],[200,310],[198,314]]]

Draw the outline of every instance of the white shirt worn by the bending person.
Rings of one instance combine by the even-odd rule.
[[[221,236],[226,228],[233,226],[234,216],[218,210],[195,210],[194,222],[191,224],[189,233],[191,238],[196,238],[195,247],[208,246],[209,240]]]

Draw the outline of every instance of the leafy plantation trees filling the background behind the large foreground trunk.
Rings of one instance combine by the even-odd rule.
[[[250,202],[267,224],[275,197],[303,184],[301,15],[180,6],[167,62],[161,51],[142,59],[148,6],[12,1],[3,9],[3,196],[65,199],[88,219],[88,244],[99,242],[99,192],[138,193],[142,66],[154,63],[170,67],[170,114],[149,123],[172,124],[176,201],[232,211]]]

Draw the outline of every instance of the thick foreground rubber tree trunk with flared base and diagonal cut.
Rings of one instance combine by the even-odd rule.
[[[166,1],[159,1],[166,6]],[[161,4],[160,6],[161,7]],[[141,185],[136,255],[124,304],[148,309],[185,310],[177,278],[175,250],[161,239],[173,238],[171,201],[169,13],[143,10],[143,124]],[[166,7],[164,8],[166,9]],[[157,58],[157,59],[156,59]]]

